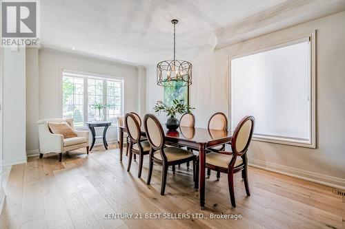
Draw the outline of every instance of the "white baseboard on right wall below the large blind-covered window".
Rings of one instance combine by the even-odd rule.
[[[271,171],[274,173],[280,173],[283,175],[288,175],[290,177],[296,177],[299,179],[304,179],[308,182],[314,182],[317,184],[323,184],[333,188],[345,189],[345,179],[339,177],[332,177],[320,173],[314,173],[311,171],[305,171],[299,168],[293,168],[290,166],[284,166],[281,164],[275,164],[271,162],[264,162],[262,160],[248,159],[248,165],[262,168],[266,171]]]

